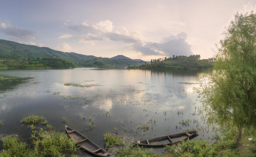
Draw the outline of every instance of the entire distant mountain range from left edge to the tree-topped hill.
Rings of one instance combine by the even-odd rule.
[[[37,58],[63,58],[74,62],[78,66],[106,68],[141,65],[145,63],[140,59],[133,60],[123,55],[117,55],[112,58],[98,58],[93,55],[56,51],[47,47],[20,44],[14,41],[0,39],[0,59],[29,60]]]

